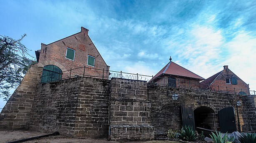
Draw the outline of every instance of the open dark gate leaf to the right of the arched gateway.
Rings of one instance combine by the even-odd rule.
[[[218,111],[221,133],[236,131],[236,120],[233,107],[223,108]]]

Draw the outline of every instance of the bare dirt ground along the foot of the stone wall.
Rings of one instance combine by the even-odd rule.
[[[35,136],[42,136],[46,133],[35,131],[0,131],[0,143],[7,143],[11,141],[21,140],[24,138],[31,138]],[[107,141],[107,138],[72,138],[66,136],[50,136],[26,141],[24,143],[120,143],[116,141]],[[121,143],[178,143],[173,141],[129,141]]]

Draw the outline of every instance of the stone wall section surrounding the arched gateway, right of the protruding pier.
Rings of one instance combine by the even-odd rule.
[[[167,95],[168,93],[168,95]],[[177,94],[178,100],[171,96]],[[214,111],[213,130],[219,131],[218,111],[225,107],[235,107],[236,101],[244,103],[244,97],[220,92],[192,90],[185,88],[171,88],[164,86],[148,85],[148,100],[151,103],[151,122],[155,127],[155,134],[163,134],[170,128],[180,129],[182,126],[181,105],[185,104],[196,109],[209,107]],[[239,116],[242,131],[250,131],[248,126],[247,109],[239,107]],[[237,119],[237,118],[236,118]]]

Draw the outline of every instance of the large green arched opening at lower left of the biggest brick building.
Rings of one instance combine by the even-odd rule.
[[[62,70],[56,65],[45,65],[43,67],[43,73],[41,82],[50,82],[60,80],[62,77]]]

